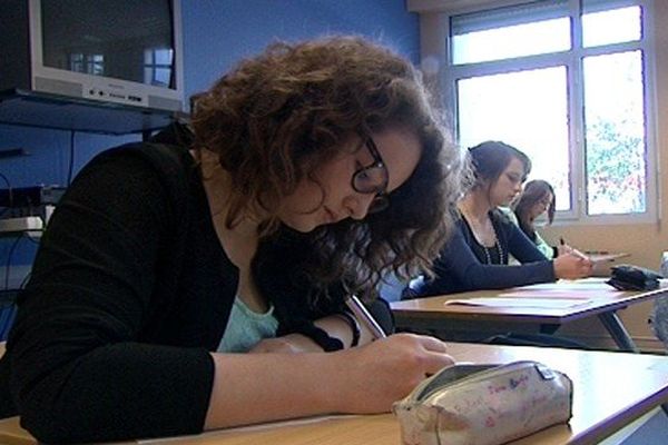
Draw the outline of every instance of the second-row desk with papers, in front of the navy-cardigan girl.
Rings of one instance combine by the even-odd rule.
[[[668,288],[656,290],[617,290],[605,283],[605,278],[560,280],[543,285],[514,287],[503,290],[475,290],[436,297],[416,298],[391,303],[397,327],[443,327],[449,319],[474,322],[528,323],[541,326],[543,332],[577,319],[598,316],[621,350],[639,352],[617,315],[617,310],[629,305],[668,295]],[[572,307],[484,307],[445,304],[453,299],[490,298],[572,298],[582,304]]]

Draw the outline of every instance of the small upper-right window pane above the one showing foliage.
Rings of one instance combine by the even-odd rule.
[[[582,16],[582,44],[600,44],[640,40],[640,7],[611,9]]]

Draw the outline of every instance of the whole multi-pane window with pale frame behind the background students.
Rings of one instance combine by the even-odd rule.
[[[462,146],[494,139],[527,152],[530,178],[556,188],[559,218],[655,218],[649,7],[543,0],[449,16],[445,81]]]

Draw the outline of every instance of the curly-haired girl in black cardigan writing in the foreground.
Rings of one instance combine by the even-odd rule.
[[[461,154],[410,62],[276,43],[191,111],[97,156],[42,237],[0,360],[0,417],[39,441],[387,412],[453,362],[342,305],[429,270],[452,230]]]

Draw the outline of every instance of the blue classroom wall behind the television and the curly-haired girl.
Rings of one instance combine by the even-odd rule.
[[[404,0],[183,0],[186,97],[207,89],[234,63],[269,42],[303,40],[332,33],[372,37],[414,62],[419,60],[419,23]],[[0,37],[0,41],[1,41]],[[95,154],[136,135],[75,134],[75,174]],[[66,185],[70,132],[0,125],[0,150],[22,147],[30,156],[0,160],[0,174],[12,187]],[[0,185],[4,187],[4,185]],[[0,270],[8,263],[11,239],[0,239]],[[37,245],[22,239],[12,254],[11,275],[29,265]],[[4,276],[0,276],[0,288]],[[11,279],[20,283],[21,276]]]

